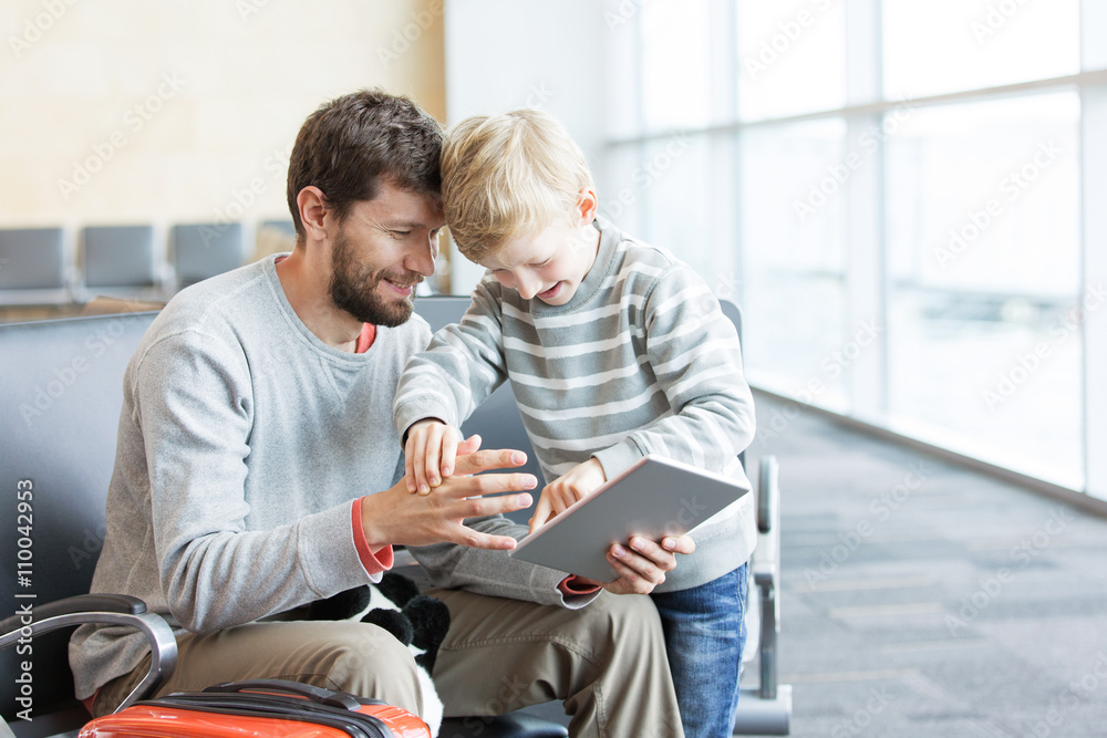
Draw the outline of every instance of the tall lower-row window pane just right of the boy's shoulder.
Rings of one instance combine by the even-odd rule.
[[[844,373],[827,360],[845,339],[846,196],[827,177],[845,141],[840,118],[749,128],[738,186],[751,378],[839,408]]]

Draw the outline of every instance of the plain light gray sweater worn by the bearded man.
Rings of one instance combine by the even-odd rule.
[[[414,316],[379,328],[364,354],[332,349],[292,311],[273,258],[182,291],[124,376],[92,591],[141,597],[174,627],[199,633],[370,582],[353,505],[403,474],[392,399],[404,363],[430,335]],[[446,585],[449,568],[466,560],[455,548],[422,554],[444,568]],[[558,594],[563,574],[516,574],[526,586],[507,588],[514,596],[587,602]],[[145,653],[127,628],[77,630],[70,642],[77,698]]]

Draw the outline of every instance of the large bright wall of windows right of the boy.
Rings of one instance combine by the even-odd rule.
[[[742,304],[752,383],[1107,497],[1099,4],[634,7],[601,195]]]

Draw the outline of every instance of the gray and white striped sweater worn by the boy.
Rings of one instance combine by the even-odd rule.
[[[546,481],[594,456],[611,477],[646,454],[731,476],[754,435],[733,323],[695,271],[598,221],[599,252],[565,305],[524,300],[489,273],[462,322],[408,361],[393,406],[403,433],[426,417],[461,426],[509,381]],[[755,542],[753,496],[694,532],[658,591],[708,582]]]

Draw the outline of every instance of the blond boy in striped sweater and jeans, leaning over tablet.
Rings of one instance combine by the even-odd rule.
[[[447,137],[442,177],[454,240],[489,272],[462,322],[404,370],[394,415],[408,489],[449,476],[457,428],[505,380],[548,481],[531,531],[646,454],[748,486],[737,455],[754,407],[734,325],[689,266],[596,217],[560,124],[538,111],[468,118]],[[695,552],[651,595],[690,737],[734,725],[752,498],[696,528]]]

